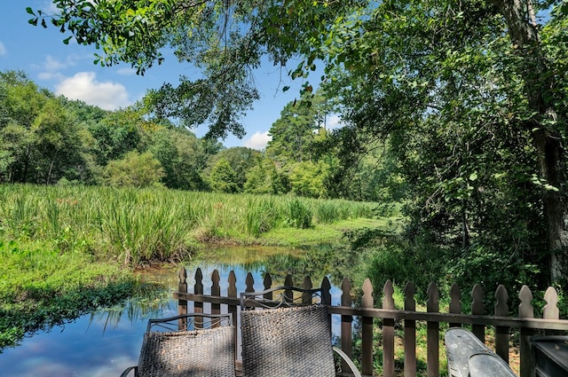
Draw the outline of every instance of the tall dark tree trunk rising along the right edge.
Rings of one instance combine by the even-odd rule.
[[[566,276],[566,252],[568,251],[568,200],[566,200],[566,165],[563,140],[553,126],[545,120],[556,120],[553,104],[545,98],[552,90],[553,82],[548,77],[544,52],[540,47],[539,34],[533,22],[531,0],[495,1],[509,27],[511,43],[515,46],[523,64],[519,73],[525,78],[525,95],[529,106],[537,114],[526,122],[533,132],[533,142],[539,152],[540,174],[548,186],[543,193],[543,212],[548,231],[550,252],[550,279]],[[560,122],[564,122],[561,120]]]

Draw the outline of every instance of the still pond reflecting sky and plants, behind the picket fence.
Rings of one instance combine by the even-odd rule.
[[[228,286],[227,278],[234,271],[239,292],[244,290],[248,271],[255,279],[255,289],[263,289],[264,274],[269,272],[273,285],[282,284],[291,274],[296,285],[310,275],[314,287],[324,276],[332,283],[332,303],[339,301],[341,280],[359,265],[359,256],[341,247],[323,246],[309,250],[277,247],[225,247],[212,250],[207,258],[195,258],[184,263],[187,283],[194,284],[193,274],[199,266],[203,272],[205,293],[210,292],[211,272],[217,269],[221,290]],[[148,269],[143,279],[162,283],[166,292],[156,297],[133,297],[106,310],[77,318],[65,326],[56,326],[24,339],[20,346],[0,354],[0,374],[4,377],[58,376],[102,377],[119,376],[138,363],[142,335],[148,318],[163,318],[177,314],[177,302],[171,292],[177,290],[179,267]],[[191,308],[190,308],[191,310]],[[338,326],[333,326],[334,332]]]

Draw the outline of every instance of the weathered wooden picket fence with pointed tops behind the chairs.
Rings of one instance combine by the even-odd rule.
[[[188,302],[193,302],[194,312],[204,312],[210,308],[211,314],[222,312],[233,313],[234,326],[239,330],[238,314],[240,310],[240,292],[237,292],[237,279],[233,271],[229,274],[228,287],[226,292],[221,292],[218,271],[213,271],[211,275],[210,294],[204,295],[203,277],[201,269],[195,271],[195,285],[188,290],[187,271],[182,268],[178,273],[179,284],[177,292],[173,296],[178,301],[178,311],[180,314],[187,312]],[[246,278],[245,292],[255,292],[254,279],[249,272]],[[272,287],[272,279],[269,274],[264,277],[264,289]],[[286,278],[286,286],[295,286],[291,276]],[[312,280],[306,277],[302,283],[303,288],[312,288]],[[331,284],[324,278],[320,287],[324,293],[328,293]],[[415,288],[412,283],[407,283],[404,288],[404,309],[397,310],[393,299],[394,288],[390,281],[383,287],[383,300],[380,302],[381,308],[375,303],[373,286],[369,279],[366,279],[362,287],[362,299],[359,307],[354,307],[351,301],[351,282],[343,279],[341,304],[332,305],[331,296],[324,295],[324,303],[331,315],[341,316],[341,348],[351,357],[352,323],[355,318],[359,318],[361,327],[361,359],[360,369],[364,375],[373,375],[373,353],[375,344],[373,342],[373,332],[375,326],[381,326],[383,337],[383,376],[392,377],[395,375],[395,322],[402,321],[404,328],[404,376],[414,377],[417,375],[416,357],[416,323],[426,324],[426,347],[427,347],[427,375],[428,377],[438,377],[440,372],[440,324],[447,323],[449,326],[469,326],[472,333],[482,342],[485,342],[485,330],[487,326],[494,328],[494,351],[503,360],[509,363],[509,343],[511,334],[518,334],[518,350],[520,352],[520,376],[529,377],[533,375],[533,354],[531,350],[531,336],[535,332],[543,334],[546,332],[568,332],[568,319],[559,318],[557,308],[558,295],[556,289],[548,287],[544,300],[546,304],[542,310],[541,318],[536,318],[533,310],[533,294],[531,290],[524,286],[518,294],[519,306],[518,317],[511,317],[509,311],[509,294],[503,286],[497,287],[494,295],[494,314],[486,315],[484,307],[484,294],[480,285],[475,285],[471,291],[472,305],[471,314],[462,314],[461,291],[457,285],[453,285],[449,295],[448,312],[440,312],[439,290],[436,284],[431,283],[428,287],[426,301],[426,311],[416,310],[414,301]],[[204,303],[209,303],[204,306]],[[376,318],[381,321],[375,321]],[[378,325],[380,323],[380,325]],[[236,334],[235,342],[239,342],[240,331]],[[240,357],[237,351],[237,359]],[[442,355],[445,357],[445,355]],[[400,375],[399,372],[397,372]]]

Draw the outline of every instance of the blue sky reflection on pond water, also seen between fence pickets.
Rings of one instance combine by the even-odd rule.
[[[205,294],[210,293],[210,277],[215,269],[219,271],[221,295],[226,293],[231,270],[236,275],[237,291],[244,291],[248,270],[242,266],[215,263],[199,263],[199,265],[203,274]],[[264,289],[264,266],[255,267],[249,271],[255,281],[255,290],[260,291]],[[171,273],[177,274],[175,270]],[[189,291],[193,292],[195,269],[188,267],[187,273]],[[160,277],[156,276],[155,279],[160,279]],[[177,279],[167,280],[171,290],[177,289]],[[272,281],[272,286],[282,283]],[[314,281],[313,284],[319,286],[319,282]],[[301,282],[296,282],[296,285],[301,285]],[[341,289],[332,286],[331,295],[332,303],[338,305]],[[192,308],[188,310],[191,311]],[[4,350],[4,353],[0,354],[0,375],[3,377],[118,376],[126,367],[138,363],[147,318],[170,317],[176,314],[177,302],[170,300],[159,312],[138,312],[138,315],[129,316],[128,309],[124,309],[120,316],[115,312],[85,315],[77,318],[73,323],[54,327],[51,332],[28,337],[21,342],[19,347]],[[334,334],[339,334],[340,316],[332,316],[332,331]]]

